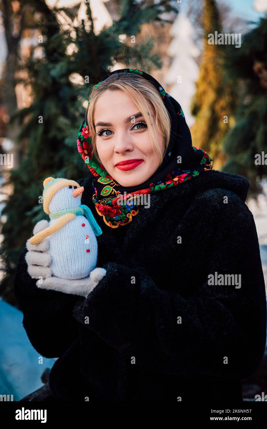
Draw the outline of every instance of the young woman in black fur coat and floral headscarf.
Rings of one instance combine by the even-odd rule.
[[[249,182],[212,170],[147,73],[116,70],[89,100],[77,142],[89,177],[78,183],[102,228],[106,275],[87,297],[39,289],[25,247],[15,278],[33,347],[58,357],[53,397],[242,402],[267,323]]]

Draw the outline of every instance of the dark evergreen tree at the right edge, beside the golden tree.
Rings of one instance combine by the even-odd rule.
[[[267,175],[267,18],[243,37],[239,49],[229,48],[226,69],[239,97],[235,126],[224,140],[228,161],[223,171],[247,177],[255,197]],[[255,156],[262,152],[266,158],[258,164]]]

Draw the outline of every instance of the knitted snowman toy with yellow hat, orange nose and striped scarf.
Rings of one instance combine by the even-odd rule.
[[[90,208],[80,204],[84,187],[74,180],[53,177],[46,178],[43,186],[43,209],[50,222],[48,227],[31,237],[29,243],[38,245],[48,237],[52,276],[41,284],[36,282],[36,285],[44,288],[53,285],[55,290],[77,294],[82,287],[81,294],[84,294],[105,275],[105,269],[95,268],[96,236],[100,236],[102,230]],[[77,291],[64,290],[64,281],[65,284],[72,283],[74,288],[76,285]]]

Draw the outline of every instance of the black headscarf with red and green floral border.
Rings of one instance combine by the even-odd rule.
[[[192,145],[191,133],[186,124],[180,104],[169,94],[166,94],[156,79],[141,70],[120,69],[108,73],[102,81],[114,73],[135,73],[143,79],[152,82],[156,90],[159,91],[171,117],[171,135],[168,150],[159,168],[144,183],[138,186],[123,187],[92,156],[92,142],[87,124],[87,111],[85,112],[84,121],[81,123],[78,132],[78,152],[93,175],[93,202],[98,215],[103,218],[103,221],[109,227],[118,228],[120,225],[129,224],[132,221],[132,217],[138,214],[140,204],[136,200],[136,197],[132,201],[129,197],[135,194],[154,193],[173,186],[180,186],[184,182],[197,177],[200,173],[210,171],[213,168],[213,161],[204,149],[198,149]],[[101,85],[101,82],[96,85],[95,91]],[[91,97],[93,97],[93,94]],[[90,99],[88,106],[89,103]],[[177,163],[178,157],[181,157],[179,158],[181,163]],[[121,204],[120,196],[121,194],[125,196],[125,192],[128,203],[124,199],[123,202],[125,204],[123,205]]]

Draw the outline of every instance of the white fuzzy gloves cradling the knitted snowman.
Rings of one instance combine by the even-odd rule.
[[[47,227],[48,221],[39,221],[33,229],[33,234],[39,233]],[[53,289],[63,293],[87,297],[106,274],[105,269],[95,268],[90,272],[89,277],[77,280],[54,277],[50,268],[52,257],[49,253],[49,239],[45,238],[37,245],[31,245],[29,240],[26,242],[28,251],[25,255],[27,269],[32,278],[38,279],[36,286],[40,289]]]

